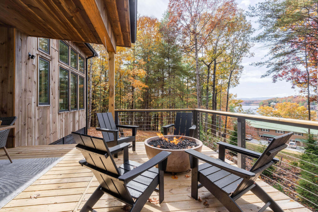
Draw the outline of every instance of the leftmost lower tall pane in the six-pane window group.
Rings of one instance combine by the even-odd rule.
[[[68,71],[59,68],[59,111],[68,110]]]

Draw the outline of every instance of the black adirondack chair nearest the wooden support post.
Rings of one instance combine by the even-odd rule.
[[[112,113],[96,114],[100,125],[100,128],[96,128],[96,130],[102,131],[103,138],[106,140],[108,147],[114,147],[124,142],[132,142],[133,151],[136,151],[136,134],[139,126],[116,125]],[[120,137],[118,127],[132,129],[132,136]],[[114,157],[117,158],[117,154]]]

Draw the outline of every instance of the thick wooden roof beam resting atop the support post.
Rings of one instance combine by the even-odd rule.
[[[103,0],[79,0],[91,20],[102,43],[109,52],[116,52],[116,40]]]

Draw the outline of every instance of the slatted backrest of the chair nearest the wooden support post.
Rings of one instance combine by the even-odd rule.
[[[96,113],[96,114],[97,114],[97,119],[98,119],[100,128],[117,130],[112,113]],[[102,134],[105,141],[114,140],[113,133],[102,132]],[[117,133],[117,137],[119,138],[118,133]]]

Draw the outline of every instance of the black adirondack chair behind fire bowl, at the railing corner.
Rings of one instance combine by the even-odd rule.
[[[167,135],[170,127],[174,126],[174,135],[184,135],[194,137],[196,126],[192,125],[192,113],[176,113],[176,122],[163,126],[163,134]]]

